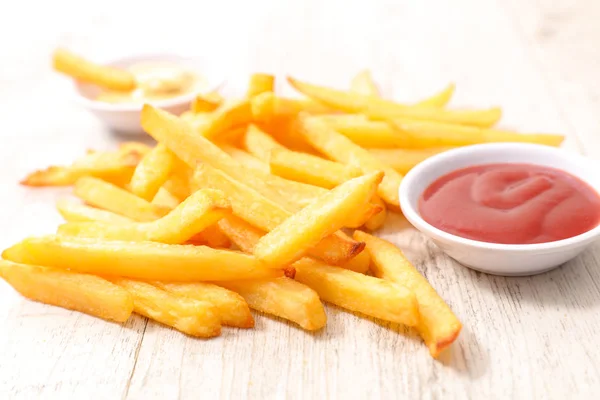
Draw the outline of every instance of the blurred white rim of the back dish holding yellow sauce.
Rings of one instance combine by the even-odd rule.
[[[201,91],[193,91],[190,93],[182,94],[177,97],[170,99],[149,101],[155,107],[169,108],[185,103],[191,103],[192,100],[198,95],[198,93],[208,93],[214,90],[220,89],[224,83],[224,78],[214,70],[210,68],[209,63],[203,63],[202,59],[191,56],[170,54],[170,53],[148,53],[148,54],[136,54],[126,57],[119,57],[110,59],[105,62],[105,65],[115,67],[128,67],[130,65],[140,62],[172,62],[177,65],[188,67],[191,71],[198,73],[201,77],[206,79],[206,88]],[[73,81],[73,89],[75,91],[75,101],[82,104],[84,107],[99,110],[99,111],[141,111],[142,103],[107,103],[104,101],[98,101],[94,99],[94,96],[100,93],[101,89],[95,85]]]

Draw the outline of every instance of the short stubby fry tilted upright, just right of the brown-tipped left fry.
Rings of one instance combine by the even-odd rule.
[[[159,143],[142,158],[135,169],[129,190],[144,200],[152,201],[158,189],[167,181],[176,162],[176,155]]]

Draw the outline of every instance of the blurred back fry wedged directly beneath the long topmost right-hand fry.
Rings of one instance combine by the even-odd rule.
[[[314,117],[361,147],[408,147],[410,138],[385,121],[370,121],[363,115],[323,115]]]

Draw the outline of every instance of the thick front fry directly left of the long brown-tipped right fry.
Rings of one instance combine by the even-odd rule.
[[[415,326],[418,303],[407,288],[303,258],[294,263],[295,279],[315,290],[321,299],[375,318]]]

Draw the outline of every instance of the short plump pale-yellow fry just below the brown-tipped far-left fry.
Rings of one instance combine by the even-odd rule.
[[[112,211],[136,221],[154,221],[170,211],[97,178],[79,179],[75,183],[73,193],[94,207]]]

